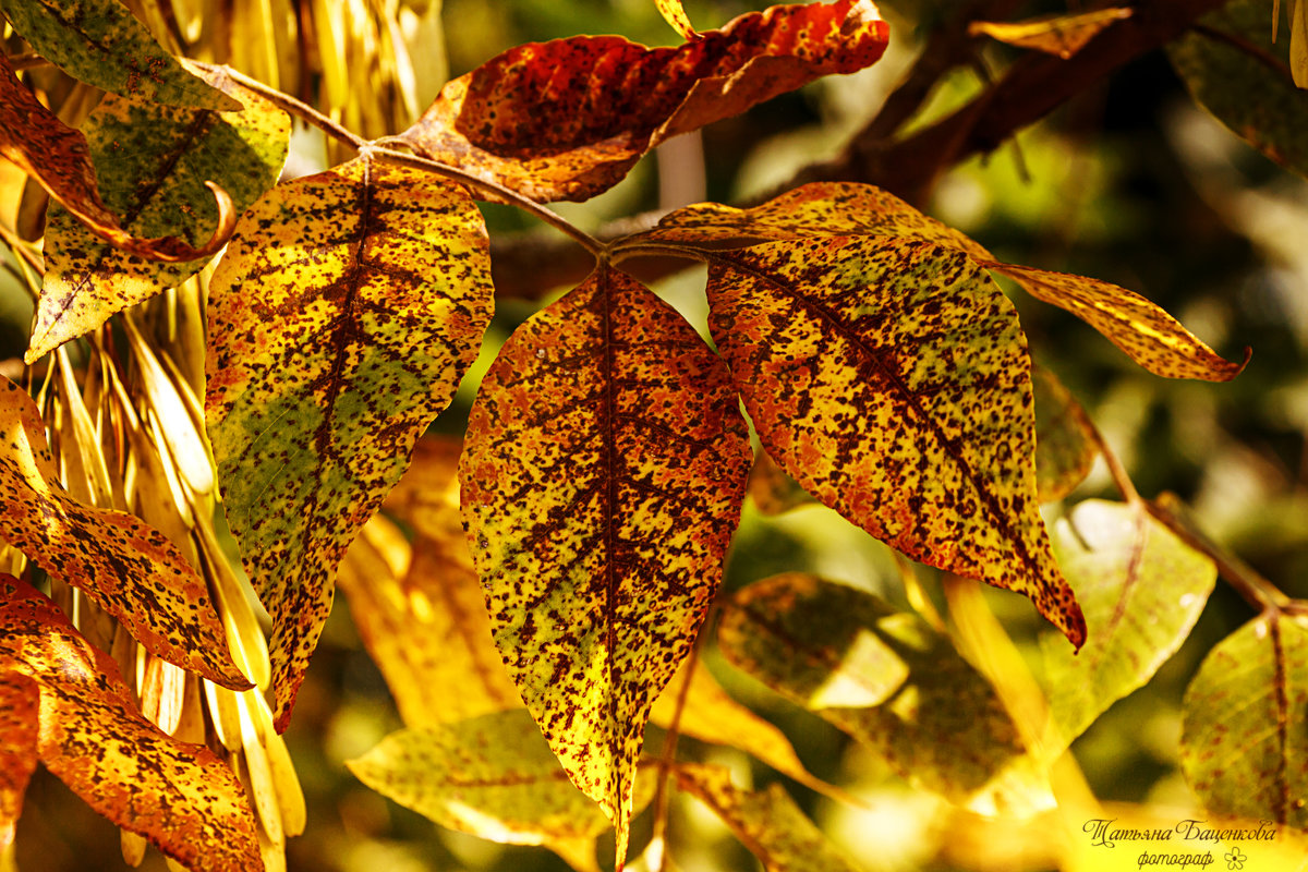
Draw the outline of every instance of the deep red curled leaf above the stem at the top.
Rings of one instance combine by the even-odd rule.
[[[886,51],[870,0],[772,7],[675,48],[573,37],[510,48],[445,86],[404,133],[535,200],[586,200],[647,149]]]

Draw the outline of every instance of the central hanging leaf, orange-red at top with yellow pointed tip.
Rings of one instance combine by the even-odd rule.
[[[717,591],[749,460],[726,367],[610,268],[518,328],[472,408],[459,478],[496,645],[619,865],[650,705]]]

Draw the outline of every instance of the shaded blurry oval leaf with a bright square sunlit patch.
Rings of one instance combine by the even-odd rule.
[[[718,645],[730,663],[951,801],[1024,758],[1003,705],[948,637],[871,594],[776,575],[725,604]]]

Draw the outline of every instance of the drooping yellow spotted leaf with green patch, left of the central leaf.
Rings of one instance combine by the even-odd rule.
[[[213,276],[205,416],[279,731],[337,563],[476,357],[488,248],[462,188],[364,156],[273,188]]]

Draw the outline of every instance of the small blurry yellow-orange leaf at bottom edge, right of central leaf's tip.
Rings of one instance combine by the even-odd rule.
[[[729,770],[693,763],[678,766],[676,783],[713,809],[766,872],[858,872],[781,784],[747,791]]]

